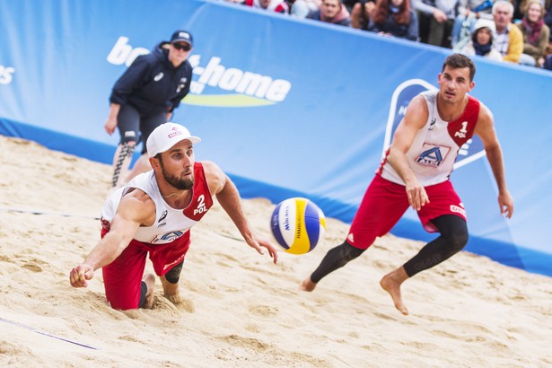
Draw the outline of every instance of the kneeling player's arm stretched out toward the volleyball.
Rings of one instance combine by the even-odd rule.
[[[238,189],[228,178],[228,176],[215,164],[215,162],[202,162],[203,169],[206,173],[206,179],[209,183],[211,194],[216,196],[218,203],[223,207],[224,211],[230,216],[232,222],[236,225],[243,239],[250,245],[251,248],[258,251],[259,254],[264,254],[261,247],[268,250],[270,257],[274,263],[278,261],[278,253],[276,248],[266,239],[256,235],[250,227],[243,209],[241,207],[241,198]]]

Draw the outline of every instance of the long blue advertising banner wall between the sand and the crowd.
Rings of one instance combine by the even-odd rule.
[[[162,21],[160,21],[162,20]],[[110,90],[137,56],[191,31],[193,83],[173,121],[198,160],[243,197],[302,196],[350,222],[408,102],[437,87],[451,50],[202,0],[0,2],[0,134],[111,162]],[[552,276],[552,74],[476,58],[472,95],[495,116],[515,214],[499,213],[481,142],[451,180],[468,211],[467,250]],[[392,230],[428,240],[413,211]]]

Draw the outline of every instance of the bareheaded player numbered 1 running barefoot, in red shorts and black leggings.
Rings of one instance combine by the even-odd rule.
[[[475,86],[475,73],[469,57],[453,54],[445,59],[438,75],[439,91],[422,92],[410,102],[364,194],[346,241],[329,250],[320,266],[303,280],[302,290],[311,292],[322,277],[360,256],[376,237],[390,232],[412,206],[425,230],[439,232],[440,236],[380,282],[395,307],[408,314],[400,285],[408,277],[450,258],[468,242],[466,211],[449,177],[460,147],[474,134],[481,138],[495,175],[500,212],[512,217],[513,198],[506,188],[493,115],[483,103],[467,95]]]

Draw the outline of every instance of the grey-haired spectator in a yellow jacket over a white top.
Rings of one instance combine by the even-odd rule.
[[[512,23],[513,4],[506,0],[498,0],[493,5],[495,20],[495,39],[493,48],[502,55],[504,61],[519,63],[523,52],[523,35]]]

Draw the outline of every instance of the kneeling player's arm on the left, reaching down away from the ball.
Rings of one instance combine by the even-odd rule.
[[[121,199],[111,221],[110,232],[105,234],[82,264],[71,270],[71,285],[87,286],[87,280],[92,279],[96,269],[109,265],[127,248],[140,225],[151,224],[154,220],[155,206],[151,198],[142,190],[136,189],[128,193]]]

